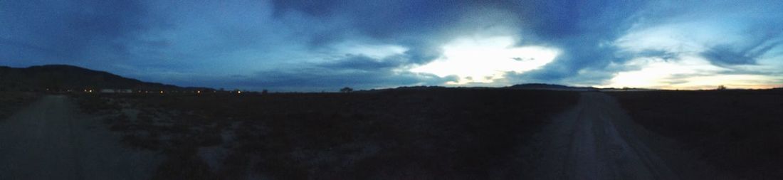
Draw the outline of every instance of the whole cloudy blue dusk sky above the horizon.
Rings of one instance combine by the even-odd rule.
[[[334,92],[783,86],[780,1],[0,0],[0,66]]]

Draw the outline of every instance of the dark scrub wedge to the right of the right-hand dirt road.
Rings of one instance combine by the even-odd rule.
[[[614,92],[634,121],[718,171],[783,179],[783,90]]]

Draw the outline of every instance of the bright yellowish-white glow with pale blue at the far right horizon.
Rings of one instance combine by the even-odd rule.
[[[633,28],[615,40],[615,46],[620,52],[636,57],[623,63],[612,63],[610,67],[620,71],[608,83],[597,87],[713,89],[726,85],[728,88],[774,88],[783,82],[783,77],[774,76],[781,73],[775,69],[779,67],[775,65],[779,62],[778,58],[758,56],[755,63],[721,65],[718,60],[704,56],[716,45],[759,49],[764,46],[754,47],[754,43],[775,43],[764,39],[743,41],[749,36],[741,33],[743,27],[746,26],[726,26],[721,22],[699,20]],[[729,50],[734,49],[720,49]],[[750,52],[726,53],[738,54],[733,58],[756,58],[745,57]]]

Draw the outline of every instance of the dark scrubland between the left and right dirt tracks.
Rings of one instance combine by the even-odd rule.
[[[507,179],[534,165],[519,147],[577,96],[443,88],[79,99],[128,146],[167,155],[157,179]]]

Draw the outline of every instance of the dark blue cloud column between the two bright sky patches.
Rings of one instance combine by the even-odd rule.
[[[645,4],[641,1],[542,1],[536,5],[546,8],[526,13],[535,17],[535,23],[527,24],[529,29],[525,30],[532,39],[523,38],[521,43],[554,46],[562,54],[543,68],[511,74],[510,78],[519,82],[570,84],[567,79],[579,77],[579,70],[603,68],[613,61],[624,60],[615,53],[616,47],[607,43],[630,27],[633,22],[630,16]],[[592,74],[590,77],[593,78],[590,81],[601,81],[611,76]]]

